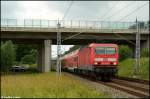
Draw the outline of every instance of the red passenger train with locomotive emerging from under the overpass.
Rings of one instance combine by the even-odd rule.
[[[64,55],[62,69],[111,80],[118,71],[118,45],[91,43]]]

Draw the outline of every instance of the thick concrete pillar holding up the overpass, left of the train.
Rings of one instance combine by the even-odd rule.
[[[38,71],[49,72],[51,70],[51,40],[44,40],[38,48]]]

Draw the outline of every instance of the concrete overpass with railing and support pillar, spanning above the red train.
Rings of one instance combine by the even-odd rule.
[[[59,21],[57,20],[16,20],[1,19],[1,39],[16,43],[38,44],[38,69],[47,72],[50,69],[51,44],[56,44],[57,32],[62,34],[63,45],[85,45],[108,40],[109,43],[127,43],[135,46],[137,32],[134,22],[99,21]],[[71,39],[70,37],[73,36]],[[140,28],[141,47],[149,47],[149,28]]]

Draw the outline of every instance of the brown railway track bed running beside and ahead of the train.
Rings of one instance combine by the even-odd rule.
[[[88,80],[98,82],[100,84],[127,92],[129,94],[132,94],[134,96],[137,96],[139,98],[149,98],[149,81],[146,80],[139,80],[139,79],[132,79],[132,78],[121,78],[117,77],[116,79],[112,79],[111,82],[103,82],[97,79],[94,79],[92,77],[89,77],[88,75],[81,75],[81,74],[75,74],[82,78],[86,78]]]

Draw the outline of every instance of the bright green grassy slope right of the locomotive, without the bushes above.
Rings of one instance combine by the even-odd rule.
[[[133,77],[134,75],[134,59],[126,59],[119,63],[119,76]],[[137,78],[149,80],[149,58],[141,58],[140,60],[140,72],[137,74]]]

